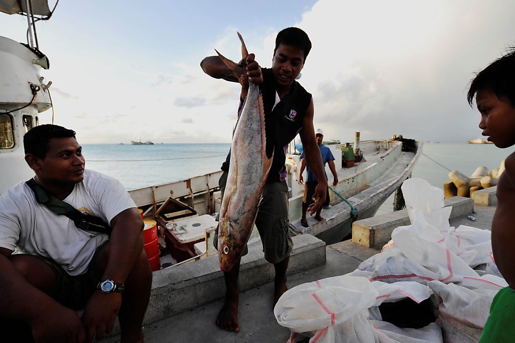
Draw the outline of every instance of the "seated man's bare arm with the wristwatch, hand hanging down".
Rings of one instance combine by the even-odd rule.
[[[136,208],[130,208],[118,213],[110,225],[113,231],[109,238],[108,261],[100,280],[124,284],[143,250],[143,219]],[[111,331],[121,304],[121,293],[105,294],[95,290],[82,315],[89,341],[95,331],[97,335]]]

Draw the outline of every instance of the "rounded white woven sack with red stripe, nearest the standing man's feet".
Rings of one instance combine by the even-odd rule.
[[[337,276],[288,289],[273,313],[283,327],[319,343],[376,342],[367,318],[377,296],[368,279]]]

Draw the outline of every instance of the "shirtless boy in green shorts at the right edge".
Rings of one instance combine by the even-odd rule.
[[[467,98],[481,114],[479,128],[499,148],[515,144],[515,50],[479,72]],[[505,171],[497,183],[497,208],[492,220],[492,251],[508,287],[497,293],[490,307],[480,342],[513,341],[515,319],[515,153],[505,160]]]

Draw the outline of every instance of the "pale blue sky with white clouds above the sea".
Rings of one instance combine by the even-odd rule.
[[[270,67],[277,32],[289,26],[313,44],[299,82],[325,139],[352,142],[359,131],[362,141],[466,142],[481,135],[466,96],[474,73],[515,45],[512,0],[144,4],[61,0],[37,23],[54,123],[81,144],[229,143],[239,84],[210,78],[200,61],[215,48],[238,61],[238,31]],[[0,35],[26,42],[26,18],[0,13]]]

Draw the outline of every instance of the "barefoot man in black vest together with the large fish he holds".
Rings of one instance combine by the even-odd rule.
[[[202,70],[214,77],[242,84],[238,124],[231,152],[222,164],[222,205],[215,237],[220,269],[226,281],[226,300],[216,319],[221,329],[238,332],[237,286],[239,263],[254,220],[265,259],[274,265],[274,304],[287,290],[286,270],[293,242],[289,236],[286,148],[297,133],[307,164],[319,183],[308,209],[313,215],[325,201],[327,180],[313,127],[310,93],[296,81],[311,50],[299,28],[278,33],[272,68],[261,68],[242,40],[243,59],[236,63],[219,56],[205,58]],[[258,87],[256,87],[258,85]]]

